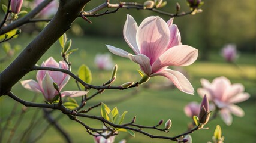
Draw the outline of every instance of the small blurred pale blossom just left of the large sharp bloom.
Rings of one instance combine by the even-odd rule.
[[[97,54],[94,63],[100,70],[112,70],[114,66],[111,55],[108,53]]]

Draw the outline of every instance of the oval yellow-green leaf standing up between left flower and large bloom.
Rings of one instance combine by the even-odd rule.
[[[79,67],[78,76],[80,79],[82,79],[84,82],[88,84],[92,82],[91,70],[85,64],[82,64],[82,66]]]

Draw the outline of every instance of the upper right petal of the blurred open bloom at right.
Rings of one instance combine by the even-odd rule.
[[[242,84],[233,84],[231,86],[228,86],[227,89],[224,92],[224,95],[222,97],[223,101],[229,101],[230,98],[233,98],[240,92],[243,92],[245,90],[244,86]]]

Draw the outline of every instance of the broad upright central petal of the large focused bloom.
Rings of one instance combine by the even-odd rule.
[[[136,37],[140,53],[149,57],[152,65],[167,49],[169,27],[160,17],[148,17],[138,27]]]

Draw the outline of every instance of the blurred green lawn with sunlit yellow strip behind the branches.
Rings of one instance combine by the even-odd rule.
[[[21,37],[22,38],[22,37]],[[12,44],[19,43],[19,41],[24,41],[22,47],[27,45],[28,39],[14,39]],[[88,65],[92,70],[92,84],[101,85],[110,78],[111,71],[100,71],[97,70],[94,64],[95,54],[98,52],[108,52],[104,44],[109,44],[123,48],[127,51],[128,46],[122,39],[117,38],[74,38],[72,48],[79,48],[79,51],[75,52],[70,57],[70,61],[73,65],[72,70],[77,74],[77,69],[80,64]],[[60,56],[60,46],[55,43],[53,47],[47,51],[38,64],[45,61],[49,56],[53,56],[56,60],[61,60]],[[200,51],[199,51],[200,53]],[[200,53],[202,54],[202,53]],[[2,55],[1,55],[2,56]],[[118,64],[118,74],[117,79],[113,85],[120,85],[125,82],[134,81],[137,82],[140,79],[139,74],[136,69],[139,66],[130,60],[122,57],[113,55],[113,60]],[[11,61],[11,60],[10,60]],[[1,71],[8,65],[4,63],[1,65]],[[217,118],[212,120],[206,126],[209,127],[208,130],[198,130],[192,133],[193,142],[207,142],[210,141],[213,135],[213,131],[216,125],[221,125],[222,135],[225,136],[225,142],[246,142],[254,143],[256,142],[256,112],[255,112],[255,81],[256,81],[256,71],[255,71],[255,54],[241,54],[237,60],[237,65],[225,63],[218,53],[213,53],[210,55],[210,61],[196,61],[194,64],[188,67],[184,67],[188,73],[189,80],[195,89],[200,88],[200,79],[205,78],[212,81],[215,77],[225,76],[231,80],[231,83],[242,83],[245,86],[245,91],[251,94],[251,98],[248,101],[238,104],[245,111],[245,117],[233,116],[233,124],[227,126],[222,122],[221,119]],[[170,67],[172,68],[172,67]],[[29,75],[23,77],[22,80],[35,79],[36,72],[32,72]],[[165,121],[171,119],[173,126],[169,133],[156,132],[155,130],[148,130],[148,132],[155,135],[165,135],[165,136],[175,136],[186,130],[186,126],[191,119],[185,116],[183,113],[183,108],[186,104],[191,101],[200,102],[201,98],[198,96],[197,92],[195,95],[188,95],[180,92],[178,89],[169,87],[166,88],[167,80],[164,77],[153,77],[149,82],[145,83],[139,88],[132,88],[125,91],[113,91],[107,90],[103,94],[97,95],[94,99],[88,102],[86,108],[92,105],[98,104],[98,102],[105,102],[109,107],[113,108],[117,106],[119,111],[128,111],[125,117],[125,122],[131,122],[134,116],[137,117],[136,123],[145,126],[154,126],[159,120],[164,119]],[[74,90],[76,85],[74,80],[71,79],[65,90]],[[137,94],[131,95],[135,90]],[[17,94],[20,98],[24,100],[31,101],[34,97],[34,93],[23,89],[20,83],[17,83],[13,88],[14,94]],[[90,91],[94,93],[95,91]],[[43,96],[36,95],[37,102],[43,101]],[[80,98],[76,98],[77,101]],[[15,102],[6,96],[0,97],[0,115],[1,115],[1,129],[7,122],[7,117],[11,113]],[[19,110],[22,105],[18,105],[18,111],[15,116],[9,120],[9,126],[5,131],[4,142],[7,142],[10,130],[15,125],[16,121],[19,120],[20,126],[14,134],[13,142],[20,140],[20,136],[23,134],[25,129],[31,123],[31,120],[39,120],[37,128],[32,130],[31,139],[40,135],[44,128],[47,126],[47,122],[43,119],[41,110],[36,110],[35,108],[29,108],[25,113],[22,120],[19,117]],[[39,112],[38,116],[33,117],[34,112]],[[59,111],[55,111],[54,116],[58,116]],[[95,108],[89,114],[96,114],[100,116],[100,108]],[[81,118],[80,118],[81,119]],[[101,122],[95,122],[91,119],[81,119],[84,123],[95,128],[101,128]],[[92,136],[88,135],[85,128],[80,126],[78,123],[73,122],[68,119],[67,116],[63,116],[59,120],[59,124],[68,132],[71,136],[73,142],[93,142]],[[120,133],[116,136],[116,142],[121,139],[127,139],[128,142],[170,142],[162,139],[151,139],[147,136],[136,133],[136,137],[133,138],[128,135],[128,133]],[[47,132],[42,136],[38,142],[63,142],[58,132],[54,128],[49,128]]]

